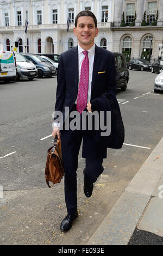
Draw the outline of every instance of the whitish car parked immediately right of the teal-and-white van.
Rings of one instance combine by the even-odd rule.
[[[33,80],[38,75],[38,70],[36,66],[27,61],[26,57],[24,57],[21,53],[15,53],[16,57],[16,80],[20,78],[28,78],[28,80]]]

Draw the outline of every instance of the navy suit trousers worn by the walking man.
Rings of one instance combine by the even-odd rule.
[[[83,135],[80,131],[61,131],[62,159],[65,169],[65,202],[68,214],[77,210],[78,154]],[[103,172],[103,157],[85,159],[85,179],[93,183]]]

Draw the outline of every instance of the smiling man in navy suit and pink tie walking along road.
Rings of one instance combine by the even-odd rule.
[[[69,113],[83,111],[91,113],[91,101],[105,92],[116,95],[116,68],[114,54],[95,45],[98,34],[97,20],[91,11],[81,11],[75,20],[74,35],[78,46],[61,53],[58,66],[58,86],[55,112],[64,115],[65,107]],[[85,158],[84,193],[91,197],[93,183],[103,172],[103,159],[106,148],[99,147],[92,131],[61,130],[60,122],[55,122],[52,136],[61,139],[62,159],[65,169],[65,202],[67,215],[62,220],[61,231],[72,227],[77,211],[77,168],[78,154],[83,139],[82,157]],[[61,135],[60,135],[61,132]]]

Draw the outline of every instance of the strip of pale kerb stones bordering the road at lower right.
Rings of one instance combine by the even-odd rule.
[[[163,137],[87,245],[127,245],[163,173]]]

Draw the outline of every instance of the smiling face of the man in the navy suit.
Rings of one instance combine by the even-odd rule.
[[[77,36],[80,47],[86,47],[87,50],[94,44],[95,37],[98,34],[98,28],[90,16],[78,18],[77,27],[73,28],[74,35]]]

